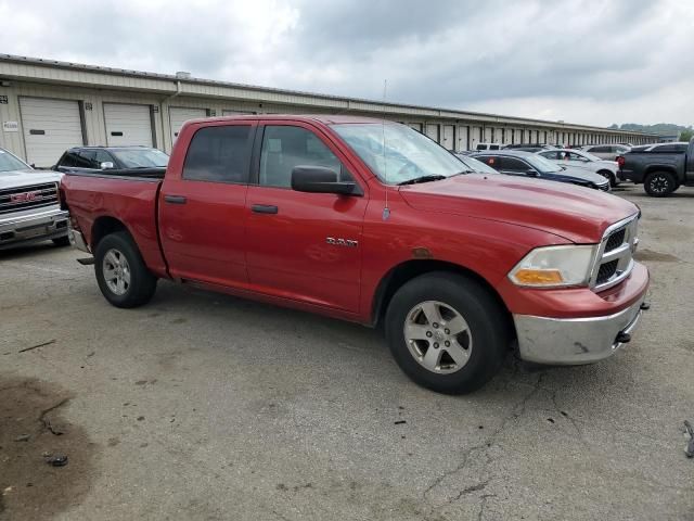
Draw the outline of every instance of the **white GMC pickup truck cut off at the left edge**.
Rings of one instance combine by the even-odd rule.
[[[57,199],[61,177],[0,149],[0,250],[48,240],[69,244],[68,215]]]

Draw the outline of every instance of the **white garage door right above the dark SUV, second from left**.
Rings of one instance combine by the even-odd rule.
[[[106,144],[152,147],[151,111],[150,105],[104,103]]]

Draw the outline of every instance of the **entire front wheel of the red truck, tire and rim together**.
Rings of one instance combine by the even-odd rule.
[[[506,310],[478,281],[455,274],[412,279],[386,313],[388,346],[420,385],[462,394],[481,387],[509,348]]]

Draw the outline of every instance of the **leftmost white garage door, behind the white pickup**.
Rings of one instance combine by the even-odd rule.
[[[65,150],[85,144],[76,101],[20,98],[20,111],[27,163],[52,166]]]

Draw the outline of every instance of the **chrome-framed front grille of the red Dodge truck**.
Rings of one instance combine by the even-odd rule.
[[[605,231],[597,250],[591,288],[606,290],[626,279],[633,269],[633,252],[639,242],[639,217],[621,220]]]

